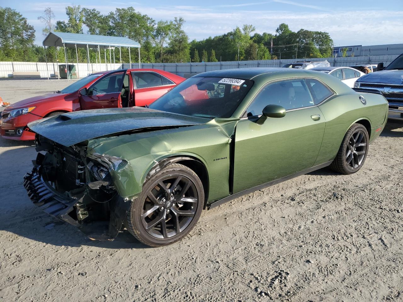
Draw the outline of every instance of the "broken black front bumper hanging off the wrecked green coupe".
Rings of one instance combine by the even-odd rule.
[[[88,215],[81,199],[68,197],[57,192],[41,175],[42,166],[35,165],[31,173],[24,176],[24,187],[31,201],[53,217],[76,226],[91,239],[113,240],[122,227],[132,200],[118,196],[110,201],[109,221],[83,221]]]

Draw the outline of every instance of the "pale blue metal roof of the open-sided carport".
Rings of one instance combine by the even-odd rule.
[[[62,33],[51,31],[43,41],[43,46],[67,46],[108,48],[109,46],[123,46],[140,48],[140,44],[126,37],[112,37],[102,35],[87,35],[82,33]]]

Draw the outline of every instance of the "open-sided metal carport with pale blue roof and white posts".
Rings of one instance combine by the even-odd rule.
[[[129,48],[129,63],[131,67],[131,55],[130,48],[138,48],[139,50],[139,68],[140,68],[140,44],[132,39],[126,37],[112,37],[112,36],[102,36],[102,35],[87,35],[83,33],[62,33],[58,31],[51,31],[43,41],[43,46],[45,49],[45,60],[46,68],[48,68],[48,59],[46,58],[46,46],[54,46],[56,49],[56,64],[57,64],[57,47],[64,48],[64,57],[66,58],[66,70],[67,79],[69,79],[69,72],[67,67],[67,55],[66,47],[75,47],[77,56],[77,68],[78,68],[78,53],[77,48],[87,48],[87,64],[89,64],[89,48],[97,48],[99,55],[99,62],[101,64],[101,48],[104,49],[104,56],[106,62],[106,50],[109,50],[110,63],[112,64],[111,48],[118,47],[120,54],[120,63],[122,63],[122,52],[121,47]],[[115,63],[115,52],[113,52],[113,62]],[[77,70],[78,71],[78,70]],[[59,78],[59,73],[58,73]],[[49,74],[48,74],[49,79]]]

